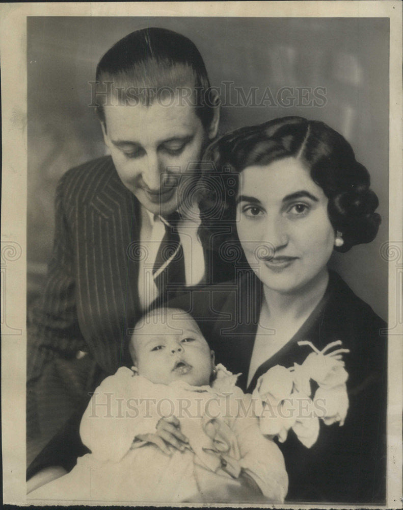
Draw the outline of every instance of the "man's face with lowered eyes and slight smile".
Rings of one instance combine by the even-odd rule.
[[[107,106],[104,113],[104,140],[122,183],[153,214],[177,210],[181,174],[200,160],[207,138],[194,107],[154,101],[148,107]]]

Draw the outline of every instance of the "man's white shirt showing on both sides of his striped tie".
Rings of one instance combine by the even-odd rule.
[[[145,310],[158,297],[152,270],[159,245],[165,235],[165,224],[158,215],[150,213],[144,207],[141,207],[141,211],[140,245],[142,256],[139,263],[138,288],[140,304]],[[198,221],[197,218],[183,219],[177,225],[184,255],[186,286],[197,285],[204,278],[203,246],[197,236],[199,226],[200,216]]]

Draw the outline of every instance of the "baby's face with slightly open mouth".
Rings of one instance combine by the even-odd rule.
[[[165,324],[144,324],[137,328],[131,342],[139,375],[151,382],[184,380],[192,386],[209,384],[213,352],[192,319],[169,317]]]

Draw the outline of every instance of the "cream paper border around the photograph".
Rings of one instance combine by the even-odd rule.
[[[25,495],[26,359],[26,18],[28,16],[388,17],[390,19],[388,460],[386,508],[402,507],[403,172],[402,4],[392,0],[319,2],[5,3],[0,6],[2,58],[2,443],[3,499]],[[22,421],[22,423],[21,423]],[[48,504],[51,504],[49,502]],[[85,502],[86,505],[91,505]],[[110,503],[109,503],[110,504]],[[159,505],[155,505],[159,506]],[[189,505],[176,505],[189,506]],[[202,506],[202,505],[194,505]],[[226,505],[217,505],[226,506]],[[247,505],[236,505],[246,507]],[[309,508],[310,505],[278,505]],[[336,508],[345,505],[318,505]],[[351,507],[361,507],[352,505]],[[374,505],[377,507],[377,505]],[[385,507],[385,506],[379,506]]]

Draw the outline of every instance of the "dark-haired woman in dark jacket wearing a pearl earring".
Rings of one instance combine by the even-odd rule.
[[[239,386],[253,391],[271,367],[304,362],[311,347],[299,341],[321,351],[341,340],[350,351],[343,354],[344,424],[320,421],[310,448],[292,430],[279,443],[289,475],[287,500],[384,501],[386,324],[327,268],[333,250],[347,251],[377,234],[381,218],[368,171],[341,135],[300,117],[229,133],[210,145],[205,159],[223,175],[224,219],[236,221],[237,237],[221,244],[222,256],[237,267],[237,282],[192,297],[195,317],[215,311],[207,338],[217,361],[241,373]]]

